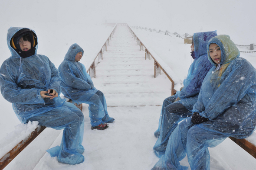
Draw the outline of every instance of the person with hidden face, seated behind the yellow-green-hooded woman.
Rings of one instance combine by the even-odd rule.
[[[178,123],[192,115],[191,110],[197,102],[203,78],[212,67],[207,58],[206,45],[216,35],[216,31],[194,33],[191,45],[194,61],[190,65],[187,78],[184,79],[184,87],[175,95],[164,99],[158,130],[154,132],[158,140],[153,149],[158,157],[164,154],[168,139]]]

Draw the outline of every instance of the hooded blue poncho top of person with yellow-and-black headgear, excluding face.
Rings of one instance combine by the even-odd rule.
[[[20,119],[26,123],[27,119],[62,106],[65,99],[55,97],[44,98],[40,91],[54,89],[60,94],[60,77],[54,64],[45,55],[35,54],[28,58],[21,58],[11,47],[10,40],[20,29],[10,27],[7,33],[7,45],[11,57],[5,60],[0,69],[1,93],[7,101],[13,103],[13,109]],[[33,31],[33,30],[31,30]],[[34,31],[33,31],[34,32]],[[37,41],[38,42],[38,41]]]

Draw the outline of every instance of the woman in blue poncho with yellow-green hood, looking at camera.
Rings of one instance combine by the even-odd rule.
[[[228,35],[211,38],[207,51],[215,67],[203,80],[193,115],[174,129],[152,170],[187,170],[179,163],[186,154],[191,170],[210,170],[208,147],[230,136],[246,138],[256,128],[256,69]]]

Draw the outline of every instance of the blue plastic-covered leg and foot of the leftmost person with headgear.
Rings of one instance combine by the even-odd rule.
[[[79,113],[79,115],[83,119],[82,114]],[[53,152],[57,152],[59,162],[65,164],[79,164],[84,161],[83,155],[78,153],[81,125],[79,115],[72,112],[71,109],[61,106],[28,120],[38,121],[39,125],[49,128],[64,128],[60,148],[55,148]]]

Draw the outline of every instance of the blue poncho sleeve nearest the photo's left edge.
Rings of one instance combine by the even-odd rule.
[[[43,97],[40,95],[40,91],[44,91],[43,89],[22,89],[18,87],[14,74],[10,64],[5,61],[0,69],[0,86],[4,99],[10,103],[44,103]]]

